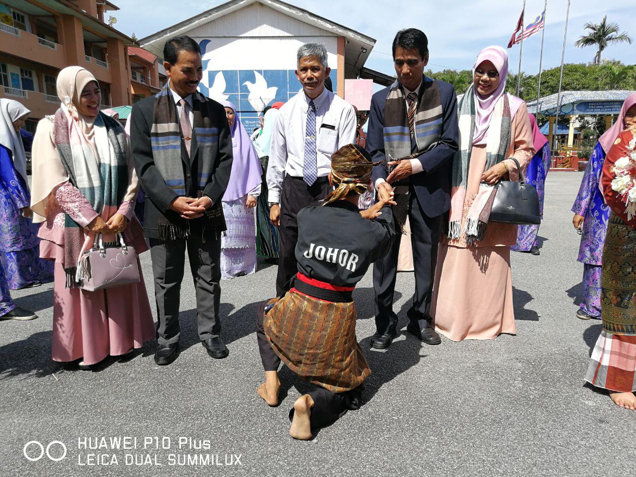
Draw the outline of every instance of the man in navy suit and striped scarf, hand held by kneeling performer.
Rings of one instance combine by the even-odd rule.
[[[415,294],[407,330],[439,344],[431,327],[431,292],[443,214],[450,209],[451,158],[459,148],[457,97],[452,85],[424,76],[429,60],[424,32],[397,32],[392,50],[397,81],[371,99],[366,150],[374,162],[388,158],[390,170],[373,168],[373,184],[380,199],[394,196],[394,216],[403,225],[408,214],[411,227]],[[397,336],[392,308],[400,237],[373,265],[377,332],[371,346],[377,349],[388,348]]]

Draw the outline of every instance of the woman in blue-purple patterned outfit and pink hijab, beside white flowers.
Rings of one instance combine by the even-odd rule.
[[[572,206],[574,228],[581,234],[578,261],[583,263],[583,303],[577,310],[577,317],[583,320],[601,319],[600,288],[601,288],[601,256],[607,233],[609,207],[605,204],[598,181],[603,170],[605,155],[614,141],[628,125],[636,124],[636,93],[629,95],[616,123],[598,138],[597,145],[591,153],[590,161],[585,168],[579,195]],[[636,108],[634,108],[636,109]]]

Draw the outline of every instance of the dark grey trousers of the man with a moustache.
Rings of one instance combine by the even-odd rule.
[[[179,341],[179,298],[186,249],[197,296],[198,336],[203,341],[221,335],[218,316],[221,240],[208,238],[204,242],[198,236],[179,240],[150,239],[158,316],[157,342],[160,345]]]

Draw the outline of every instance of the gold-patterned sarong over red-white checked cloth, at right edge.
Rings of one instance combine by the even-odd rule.
[[[611,391],[636,391],[636,230],[614,214],[602,268],[603,330],[585,379]]]

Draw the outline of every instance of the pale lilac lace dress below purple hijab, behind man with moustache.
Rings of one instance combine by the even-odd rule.
[[[254,209],[245,207],[245,197],[223,204],[228,228],[221,235],[221,278],[231,279],[256,272],[256,225]]]

